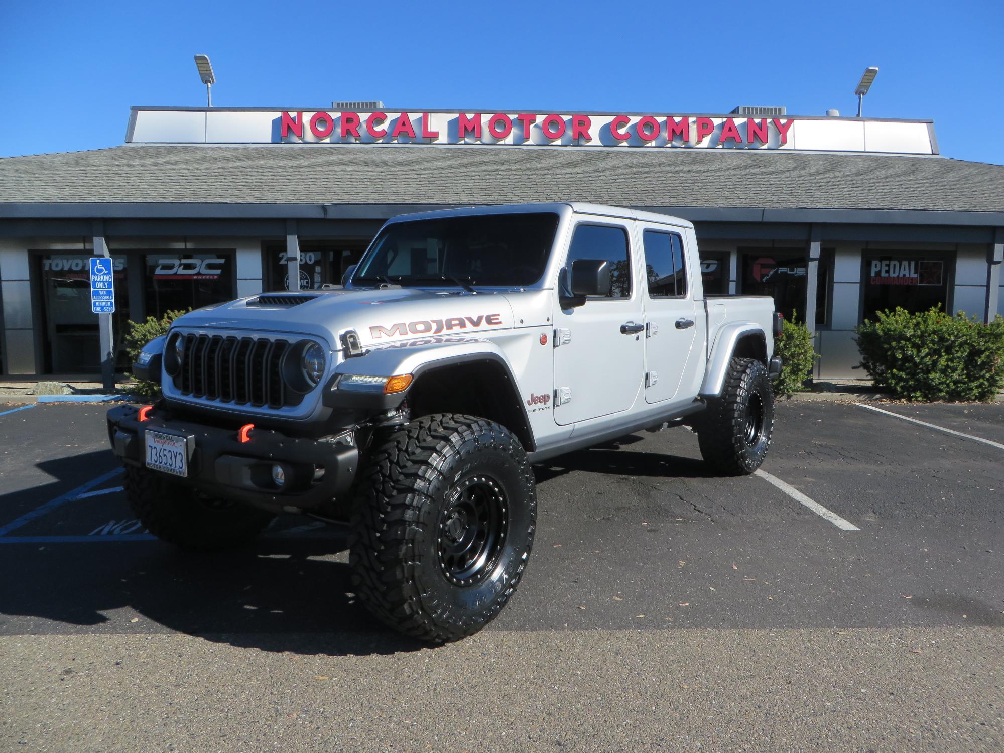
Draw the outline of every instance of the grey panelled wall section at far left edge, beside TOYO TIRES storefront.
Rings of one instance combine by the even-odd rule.
[[[0,299],[3,301],[3,371],[37,373],[31,318],[28,250],[17,240],[0,240]]]

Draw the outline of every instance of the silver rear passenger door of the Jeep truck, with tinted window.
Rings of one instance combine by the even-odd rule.
[[[688,364],[693,367],[697,360],[695,343],[704,342],[704,305],[694,299],[694,293],[701,295],[701,290],[688,284],[700,271],[688,273],[683,230],[639,223],[638,231],[648,278],[645,400],[661,403],[676,397]]]

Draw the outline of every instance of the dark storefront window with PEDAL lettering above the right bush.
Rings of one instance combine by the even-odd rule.
[[[864,318],[902,306],[911,312],[948,309],[949,259],[890,252],[864,257]]]

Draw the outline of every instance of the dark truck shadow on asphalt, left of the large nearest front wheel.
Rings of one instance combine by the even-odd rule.
[[[265,540],[219,554],[150,541],[6,546],[0,552],[5,569],[16,557],[24,576],[0,583],[0,604],[8,615],[111,633],[136,630],[129,616],[105,614],[130,607],[172,631],[270,652],[340,656],[423,648],[355,601],[347,563],[327,557],[344,549],[338,529],[323,538]]]

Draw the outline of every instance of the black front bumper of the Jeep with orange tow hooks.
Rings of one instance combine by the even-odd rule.
[[[139,420],[135,406],[108,411],[108,440],[123,462],[144,466],[147,429],[194,438],[187,478],[170,478],[214,496],[274,512],[311,510],[348,491],[359,452],[351,435],[338,441],[296,439],[268,429],[253,429],[247,442],[236,429],[195,424],[164,410]],[[271,467],[280,464],[286,482],[277,488]],[[151,471],[159,473],[159,471]]]

